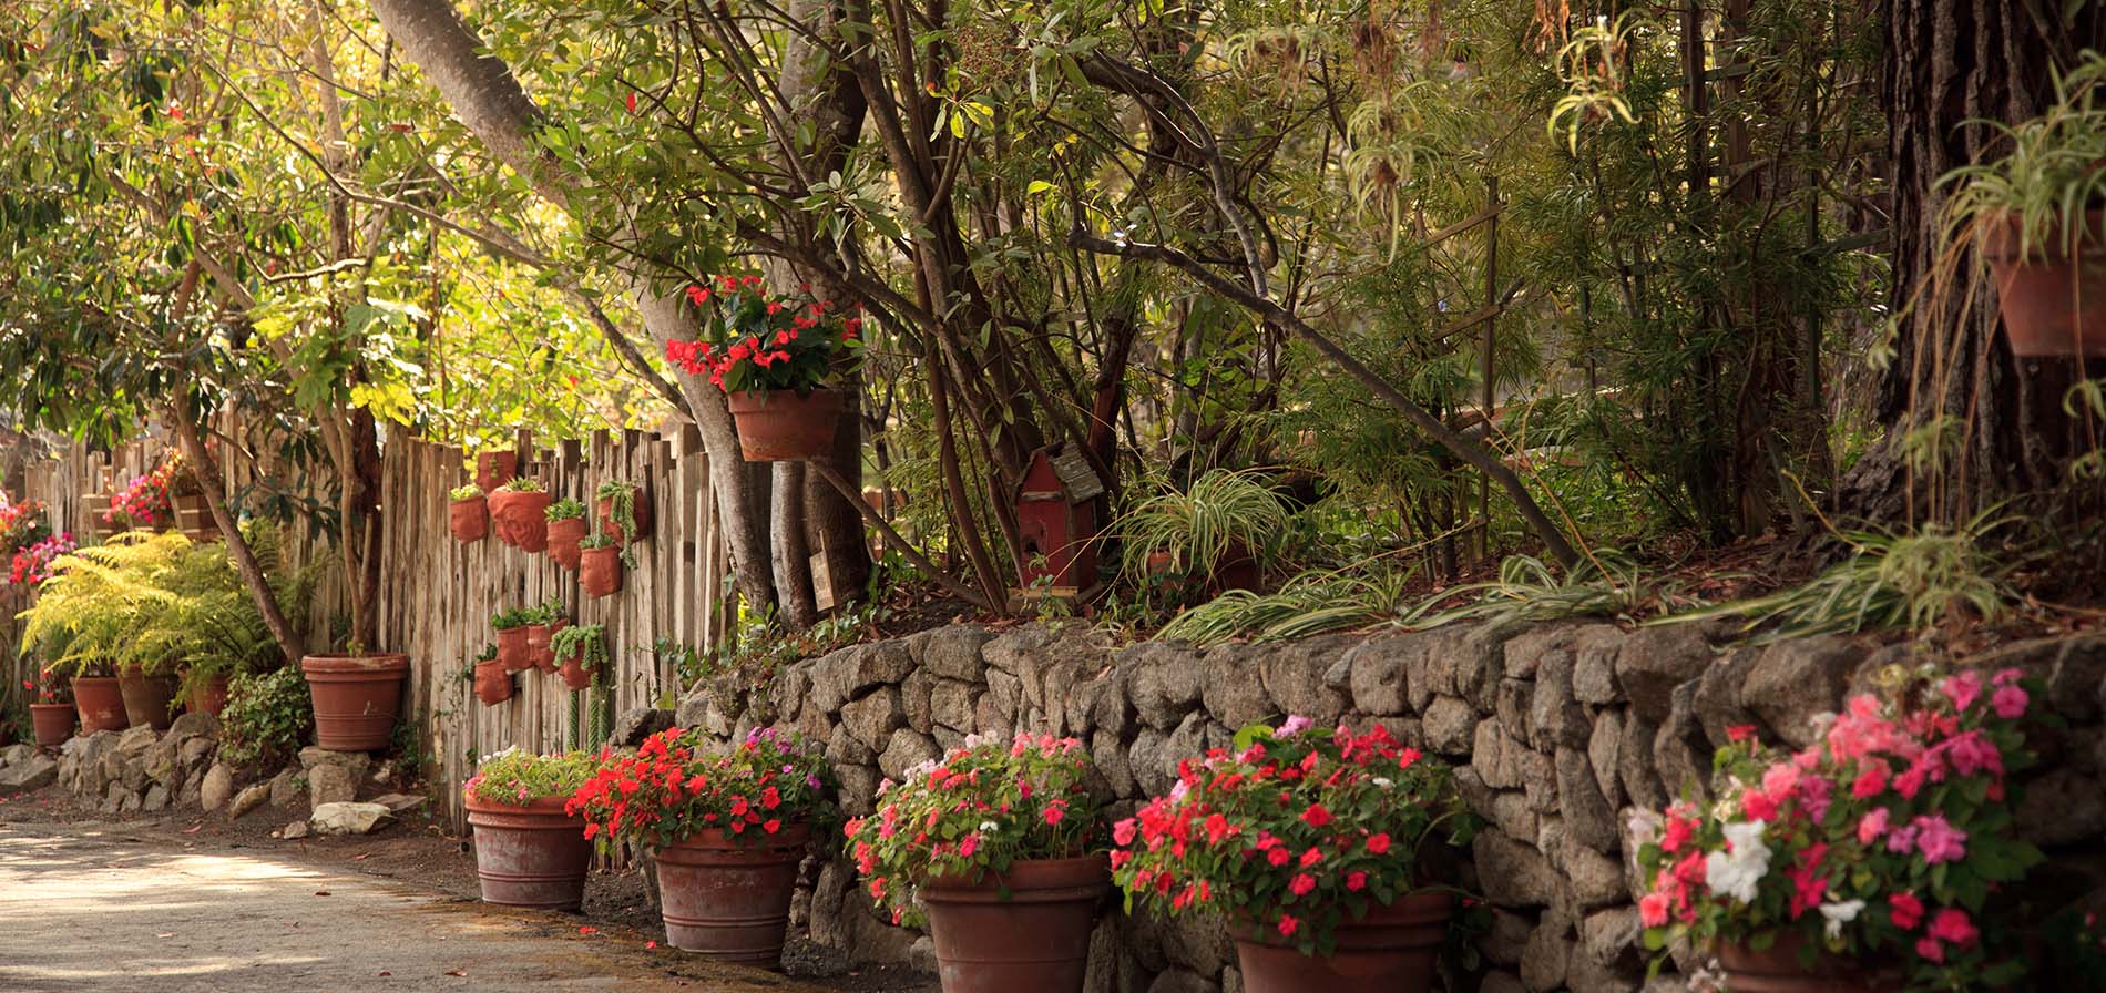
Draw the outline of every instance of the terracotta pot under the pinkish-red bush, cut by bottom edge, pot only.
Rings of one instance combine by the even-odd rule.
[[[1434,961],[1447,940],[1455,896],[1445,892],[1398,896],[1369,907],[1367,917],[1342,921],[1337,951],[1302,955],[1278,945],[1276,932],[1238,924],[1236,961],[1247,993],[1426,993],[1434,989]],[[1253,936],[1259,934],[1259,936]]]

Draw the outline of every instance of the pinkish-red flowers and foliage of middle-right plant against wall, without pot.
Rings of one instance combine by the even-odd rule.
[[[1112,873],[1131,896],[1179,913],[1232,894],[1238,926],[1320,949],[1339,919],[1411,892],[1415,846],[1436,827],[1453,844],[1474,831],[1447,766],[1382,726],[1291,717],[1238,741],[1179,762],[1167,797],[1112,827]]]

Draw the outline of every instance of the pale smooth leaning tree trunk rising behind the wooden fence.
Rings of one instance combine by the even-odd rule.
[[[535,145],[533,133],[541,124],[541,109],[520,88],[512,67],[489,55],[449,0],[373,0],[373,13],[388,36],[432,80],[455,116],[468,124],[468,130],[493,156],[526,177],[541,198],[571,206],[575,196],[585,194],[583,177],[567,173]],[[615,238],[634,242],[636,231],[615,231]],[[678,292],[655,290],[651,273],[632,269],[623,276],[636,309],[644,318],[644,330],[659,347],[676,339],[695,339],[695,318]],[[767,518],[754,513],[750,475],[739,457],[731,410],[724,406],[722,391],[706,381],[678,372],[676,381],[710,457],[710,484],[739,595],[752,608],[767,610],[775,604],[775,576],[767,555]]]

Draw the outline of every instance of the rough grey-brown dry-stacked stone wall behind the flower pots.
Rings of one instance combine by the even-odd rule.
[[[790,665],[767,686],[722,677],[691,694],[682,726],[743,736],[777,726],[828,743],[845,806],[868,814],[882,776],[960,745],[1015,730],[1089,743],[1122,816],[1171,787],[1179,757],[1228,745],[1234,728],[1302,713],[1382,722],[1445,755],[1487,829],[1466,881],[1493,907],[1478,938],[1481,976],[1451,989],[1634,991],[1636,949],[1622,825],[1634,806],[1697,793],[1725,728],[1759,726],[1805,745],[1809,717],[1834,711],[1912,646],[1843,637],[1718,648],[1697,625],[1624,631],[1609,623],[1449,627],[1196,650],[1110,646],[1085,625],[992,631],[956,625],[842,648]],[[2047,680],[2043,770],[2026,785],[2024,833],[2055,863],[2043,877],[2068,898],[2106,903],[2106,637],[2030,642],[1969,665],[2018,665]],[[817,940],[861,961],[925,959],[916,934],[891,928],[828,863],[800,896]],[[1234,949],[1217,921],[1106,921],[1089,993],[1240,993]]]

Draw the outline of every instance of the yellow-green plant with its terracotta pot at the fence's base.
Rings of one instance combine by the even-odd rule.
[[[482,903],[575,911],[585,903],[592,842],[585,818],[564,806],[585,785],[594,759],[583,751],[533,755],[505,749],[484,755],[461,785],[476,835]]]

